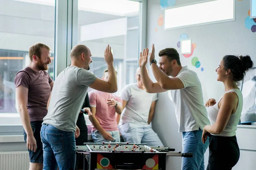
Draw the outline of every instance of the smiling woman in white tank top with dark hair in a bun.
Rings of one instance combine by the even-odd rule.
[[[250,56],[227,55],[215,70],[217,81],[225,86],[225,93],[216,102],[206,103],[211,125],[203,130],[202,142],[209,136],[209,162],[207,170],[231,170],[239,160],[239,146],[236,141],[236,125],[239,123],[243,106],[243,96],[237,82],[244,78],[245,72],[253,66]]]

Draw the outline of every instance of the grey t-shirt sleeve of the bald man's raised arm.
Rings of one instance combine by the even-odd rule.
[[[96,80],[95,74],[90,71],[79,68],[77,71],[77,82],[81,86],[90,86]]]

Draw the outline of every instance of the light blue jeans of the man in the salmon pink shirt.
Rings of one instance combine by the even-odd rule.
[[[115,142],[119,143],[120,142],[120,134],[119,131],[107,131],[108,133],[111,134],[113,137],[113,141],[107,141],[106,139],[103,138],[102,134],[99,133],[98,130],[94,130],[92,133],[92,138],[94,143],[102,143],[102,142]]]

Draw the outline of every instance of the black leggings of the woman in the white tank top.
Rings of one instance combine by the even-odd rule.
[[[231,170],[239,160],[240,151],[236,136],[210,135],[207,170]]]

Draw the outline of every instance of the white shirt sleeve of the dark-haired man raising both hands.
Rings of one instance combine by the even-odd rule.
[[[195,73],[192,71],[183,71],[177,75],[177,78],[183,83],[184,88],[195,85]]]

